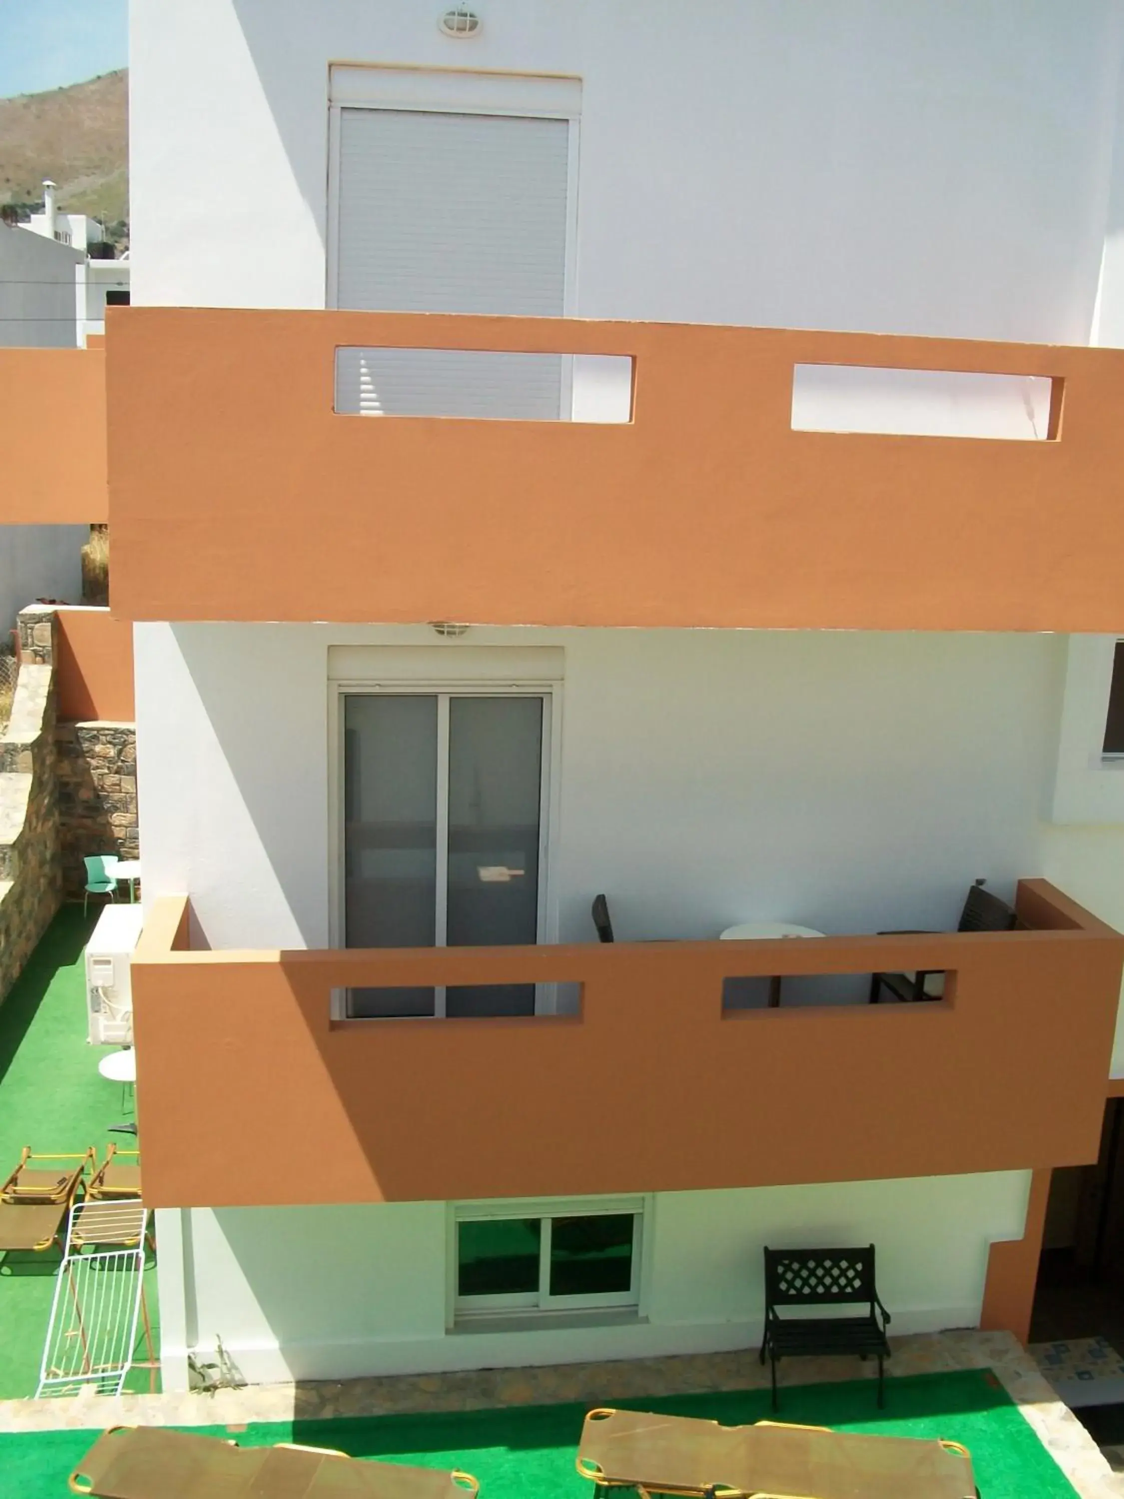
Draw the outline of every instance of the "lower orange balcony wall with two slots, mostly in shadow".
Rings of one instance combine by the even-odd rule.
[[[145,1201],[566,1196],[1046,1168],[1096,1157],[1124,938],[1054,929],[133,964]],[[1075,914],[1079,913],[1079,914]],[[745,1010],[731,974],[950,970],[946,1003]],[[331,1021],[349,985],[580,982],[572,1018]]]

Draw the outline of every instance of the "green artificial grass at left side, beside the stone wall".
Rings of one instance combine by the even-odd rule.
[[[94,1145],[99,1159],[111,1139],[123,1150],[132,1145],[108,1132],[132,1117],[132,1106],[121,1111],[121,1085],[97,1072],[105,1051],[85,1042],[82,950],[99,914],[100,904],[91,902],[88,916],[81,905],[64,905],[0,1004],[0,1181],[24,1145],[64,1154]],[[58,1261],[58,1250],[0,1255],[0,1400],[36,1391]],[[156,1325],[151,1264],[145,1298]],[[148,1372],[133,1370],[127,1388],[147,1390]],[[6,1499],[3,1484],[0,1495]]]

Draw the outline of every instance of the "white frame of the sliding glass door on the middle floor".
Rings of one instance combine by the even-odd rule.
[[[502,652],[507,655],[508,652]],[[421,696],[438,699],[438,739],[444,732],[448,744],[448,697],[540,697],[543,699],[543,764],[540,781],[540,823],[538,823],[538,913],[535,941],[540,944],[558,941],[558,901],[555,898],[556,878],[553,869],[553,848],[556,838],[552,836],[559,826],[561,814],[561,764],[562,747],[562,682],[561,681],[511,681],[490,682],[480,679],[459,681],[448,676],[441,681],[405,679],[405,681],[370,681],[366,678],[340,678],[328,682],[328,940],[333,947],[343,947],[343,865],[345,847],[342,836],[343,826],[343,700],[351,696],[390,694],[393,697]],[[445,711],[442,715],[442,697]],[[444,729],[442,729],[444,718]],[[438,755],[441,764],[441,754]],[[448,785],[438,787],[438,886],[447,871],[448,860],[448,806],[445,802]],[[442,806],[442,802],[445,803]],[[442,821],[444,811],[444,821]],[[442,836],[444,829],[444,836]],[[445,932],[438,931],[436,947],[445,946]],[[558,985],[535,985],[535,1013],[553,1015],[558,1009]],[[445,989],[438,986],[436,1006],[433,1015],[402,1016],[403,1019],[435,1021],[445,1019]],[[381,1025],[381,1018],[357,1018],[348,1015],[346,991],[333,989],[331,1019],[346,1021],[349,1025]]]

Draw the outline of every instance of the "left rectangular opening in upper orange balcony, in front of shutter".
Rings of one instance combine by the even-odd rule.
[[[499,349],[336,349],[336,411],[474,421],[632,420],[632,358]]]

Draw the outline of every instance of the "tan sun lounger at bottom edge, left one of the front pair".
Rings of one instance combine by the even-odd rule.
[[[237,1447],[153,1426],[114,1426],[70,1474],[96,1499],[469,1499],[471,1474],[369,1463],[315,1447]]]

